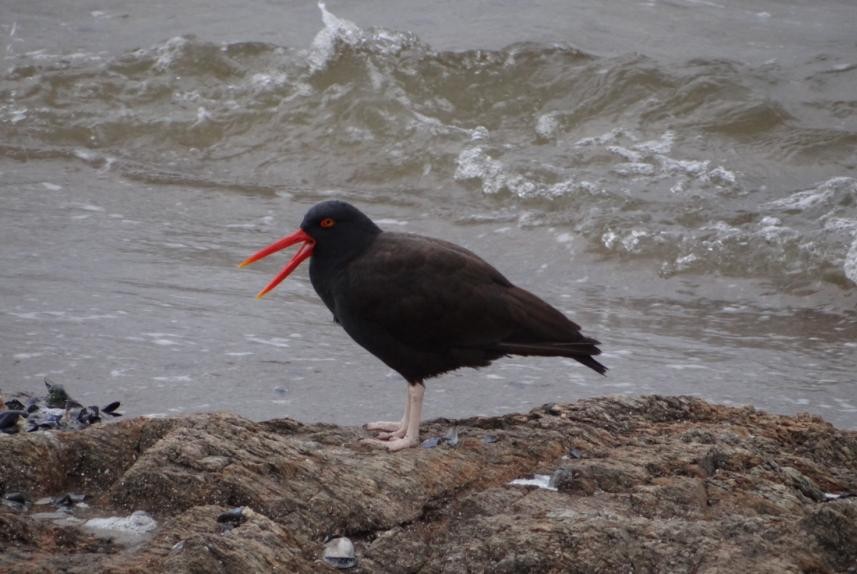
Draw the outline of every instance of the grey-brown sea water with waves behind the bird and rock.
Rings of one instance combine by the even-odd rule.
[[[825,0],[0,7],[0,390],[129,415],[398,418],[306,269],[236,265],[339,197],[455,241],[603,343],[427,417],[692,394],[857,428],[857,6]]]

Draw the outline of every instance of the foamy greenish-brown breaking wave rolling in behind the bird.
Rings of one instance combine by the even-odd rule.
[[[774,66],[439,52],[320,10],[306,49],[177,37],[113,59],[17,55],[0,153],[244,192],[322,180],[462,222],[517,212],[665,275],[857,284],[855,101],[780,97]]]

